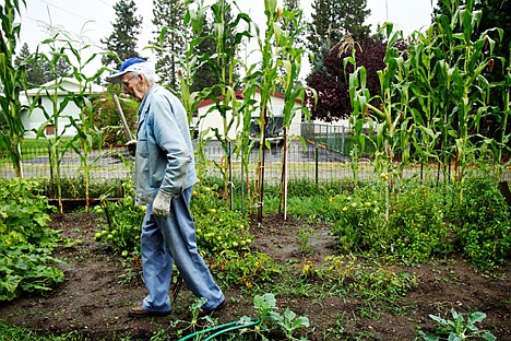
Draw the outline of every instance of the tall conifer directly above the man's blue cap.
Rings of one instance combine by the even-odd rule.
[[[135,15],[136,5],[133,0],[119,0],[115,5],[116,22],[112,23],[114,32],[102,44],[108,51],[117,54],[117,57],[105,55],[102,62],[106,67],[119,69],[123,60],[130,57],[139,57],[136,52],[138,36],[142,25],[142,16]]]

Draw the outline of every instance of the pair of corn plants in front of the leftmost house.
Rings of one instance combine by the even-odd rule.
[[[49,52],[36,52],[34,58],[46,59],[55,80],[52,84],[39,91],[50,98],[51,107],[46,108],[41,105],[38,106],[45,115],[46,122],[38,129],[37,137],[45,136],[45,130],[48,125],[54,126],[55,137],[48,139],[48,145],[50,150],[50,167],[51,169],[55,169],[52,175],[55,175],[59,211],[62,212],[63,209],[61,190],[62,174],[60,165],[62,157],[70,150],[74,150],[74,152],[80,156],[81,168],[84,176],[85,210],[88,211],[88,189],[91,178],[90,155],[94,148],[94,142],[98,142],[97,148],[100,149],[100,132],[93,124],[95,107],[92,105],[90,99],[90,90],[92,83],[97,80],[106,69],[102,68],[93,75],[87,77],[84,69],[94,63],[98,54],[88,54],[88,49],[91,48],[90,45],[70,37],[64,32],[57,33],[52,38],[44,40],[43,44],[49,47]],[[87,57],[84,59],[83,55],[86,55]],[[62,87],[63,75],[58,74],[57,70],[57,64],[62,61],[71,67],[71,73],[67,74],[67,77],[73,78],[79,82],[78,92],[69,92],[69,90]],[[60,94],[64,95],[61,96]],[[66,115],[67,107],[71,103],[74,103],[74,105],[80,109],[80,117],[78,120],[72,116]],[[69,122],[64,127],[60,127],[61,119],[67,119]],[[71,140],[62,138],[66,131],[71,127],[76,131],[74,138]]]

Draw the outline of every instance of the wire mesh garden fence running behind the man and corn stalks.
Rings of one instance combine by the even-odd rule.
[[[264,153],[264,176],[269,183],[277,183],[282,177],[282,162],[284,152],[282,144],[272,144]],[[198,163],[205,161],[207,167],[206,175],[218,175],[218,165],[225,163],[225,151],[216,141],[210,141],[204,148],[203,157],[198,157]],[[44,148],[23,148],[23,175],[25,178],[55,178],[56,167],[50,166],[50,153]],[[81,156],[73,151],[68,151],[59,158],[60,176],[81,177],[83,176],[83,163]],[[13,178],[14,168],[5,154],[0,160],[0,177]],[[234,177],[242,178],[241,156],[231,154],[231,174]],[[259,146],[255,145],[249,155],[249,176],[255,176],[259,164]],[[87,158],[92,180],[127,178],[133,174],[132,157],[124,148],[94,151]],[[216,166],[215,166],[216,164]],[[360,169],[367,172],[371,169],[369,162],[360,162]],[[340,178],[350,178],[349,157],[342,155],[328,148],[308,142],[305,148],[300,142],[293,142],[287,151],[287,176],[289,179],[308,179],[316,181],[335,180]]]

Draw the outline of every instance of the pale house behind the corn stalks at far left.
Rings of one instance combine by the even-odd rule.
[[[88,95],[99,95],[106,92],[106,89],[88,83],[86,93]],[[63,103],[64,98],[70,93],[80,93],[80,83],[72,78],[64,78],[61,80],[58,89],[55,86],[55,81],[48,82],[40,85],[39,87],[27,90],[20,94],[20,102],[22,106],[27,106],[35,101],[37,94],[37,105],[40,105],[47,113],[51,116],[56,110],[54,108],[54,96],[57,95],[57,108],[59,108]],[[36,132],[43,125],[48,122],[48,119],[45,116],[44,109],[37,107],[32,113],[28,109],[22,109],[21,120],[23,128],[25,129],[25,137],[34,138]],[[45,128],[45,134],[47,137],[52,137],[56,132],[59,136],[73,137],[76,134],[76,128],[70,125],[70,118],[80,119],[81,108],[79,108],[72,101],[68,102],[62,113],[60,113],[58,118],[58,131],[56,131],[55,125],[47,125]]]

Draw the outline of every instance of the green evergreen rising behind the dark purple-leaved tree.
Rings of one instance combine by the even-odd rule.
[[[356,40],[367,38],[370,25],[364,25],[364,22],[370,13],[367,0],[314,0],[308,36],[309,50],[320,56],[323,45],[330,49],[346,34]]]

